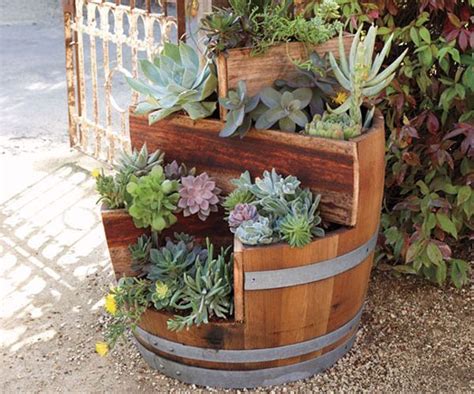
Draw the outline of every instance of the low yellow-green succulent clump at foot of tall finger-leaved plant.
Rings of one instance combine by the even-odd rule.
[[[361,126],[346,112],[342,114],[325,112],[323,116],[315,115],[306,125],[304,132],[315,137],[342,140],[358,136]]]

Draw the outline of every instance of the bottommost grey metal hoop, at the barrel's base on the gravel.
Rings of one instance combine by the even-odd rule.
[[[249,371],[229,371],[191,367],[160,357],[137,342],[138,350],[146,362],[165,375],[190,384],[225,388],[252,388],[273,386],[308,378],[339,360],[354,344],[356,334],[339,347],[322,356],[297,364]]]

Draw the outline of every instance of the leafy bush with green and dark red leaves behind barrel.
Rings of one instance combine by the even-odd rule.
[[[376,100],[387,126],[380,258],[399,272],[461,287],[473,258],[474,2],[338,3],[347,30],[379,27],[378,48],[394,34],[386,65],[409,50]]]

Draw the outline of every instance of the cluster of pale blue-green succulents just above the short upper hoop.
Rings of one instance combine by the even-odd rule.
[[[265,171],[254,183],[248,172],[233,183],[237,186],[234,192],[253,196],[249,202],[237,203],[228,216],[230,230],[243,243],[262,245],[286,241],[291,247],[302,247],[313,237],[324,235],[319,227],[320,196],[302,189],[296,177],[284,178],[273,169]]]

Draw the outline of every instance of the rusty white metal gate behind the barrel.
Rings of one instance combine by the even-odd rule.
[[[63,0],[70,144],[109,163],[130,149],[128,107],[138,100],[121,74],[136,77],[139,57],[185,32],[185,0],[142,3]]]

